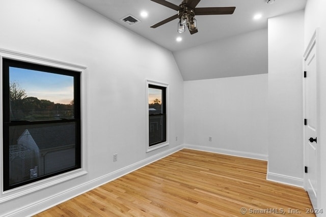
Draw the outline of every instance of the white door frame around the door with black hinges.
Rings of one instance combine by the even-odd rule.
[[[303,56],[303,69],[304,71],[306,70],[306,66],[305,66],[305,61],[307,60],[312,48],[315,46],[316,48],[316,126],[317,126],[317,130],[316,130],[316,136],[317,139],[320,138],[320,50],[319,50],[319,43],[320,43],[320,38],[319,38],[319,28],[315,29],[315,32],[313,33],[310,42],[308,44],[308,46],[306,47],[304,56]],[[306,118],[306,102],[305,102],[305,96],[306,96],[306,84],[305,84],[305,78],[303,77],[303,120]],[[307,161],[306,161],[306,157],[307,157],[307,153],[306,153],[306,140],[308,140],[308,138],[306,137],[306,126],[303,125],[303,162],[304,162],[304,166],[307,165]],[[317,140],[318,141],[318,140]],[[319,140],[320,141],[320,140]],[[320,145],[320,142],[318,142],[318,145]],[[321,161],[320,161],[320,148],[318,147],[318,151],[317,151],[317,205],[319,204],[318,200],[320,200],[320,195],[321,195],[321,191],[320,191],[320,185],[321,185],[321,171],[320,171],[320,165],[321,165]],[[309,169],[308,169],[309,172]],[[307,191],[307,173],[305,173],[305,170],[303,168],[303,177],[304,177],[304,189]],[[315,209],[317,209],[318,207],[314,207]]]

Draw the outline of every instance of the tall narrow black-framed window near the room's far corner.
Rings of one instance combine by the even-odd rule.
[[[148,84],[149,146],[167,141],[166,87]]]

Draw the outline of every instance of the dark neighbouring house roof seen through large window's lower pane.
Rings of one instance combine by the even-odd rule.
[[[75,144],[75,124],[28,129],[40,150]]]

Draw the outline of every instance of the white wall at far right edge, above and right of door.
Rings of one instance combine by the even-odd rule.
[[[315,29],[319,27],[320,38],[320,126],[318,137],[318,148],[320,154],[320,182],[318,185],[318,207],[325,209],[326,204],[326,1],[308,0],[305,10],[305,47],[308,45]],[[326,216],[326,212],[317,215]]]

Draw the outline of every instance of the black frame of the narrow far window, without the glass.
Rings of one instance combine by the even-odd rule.
[[[149,125],[149,129],[148,129],[148,136],[150,138],[151,136],[151,132],[150,132],[150,117],[153,117],[153,116],[159,116],[159,117],[162,117],[162,125],[164,125],[162,127],[162,130],[164,132],[162,132],[162,137],[163,139],[160,140],[160,141],[157,141],[157,142],[154,142],[154,143],[150,143],[150,139],[148,141],[148,146],[149,147],[152,147],[154,145],[157,145],[157,144],[161,144],[161,143],[164,143],[167,141],[167,87],[165,86],[159,86],[159,85],[155,85],[155,84],[148,84],[148,88],[154,88],[154,89],[160,89],[162,90],[162,99],[161,99],[161,113],[159,114],[149,114],[149,118],[148,118],[148,125]],[[148,108],[149,109],[149,108]]]

